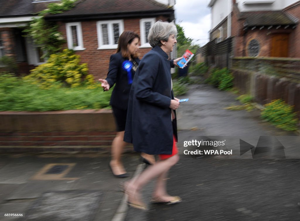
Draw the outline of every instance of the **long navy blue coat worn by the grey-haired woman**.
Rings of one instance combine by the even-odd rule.
[[[139,64],[132,83],[124,141],[147,154],[172,154],[176,118],[171,120],[171,67],[173,61],[159,46],[152,48]],[[175,112],[175,111],[174,111]]]

